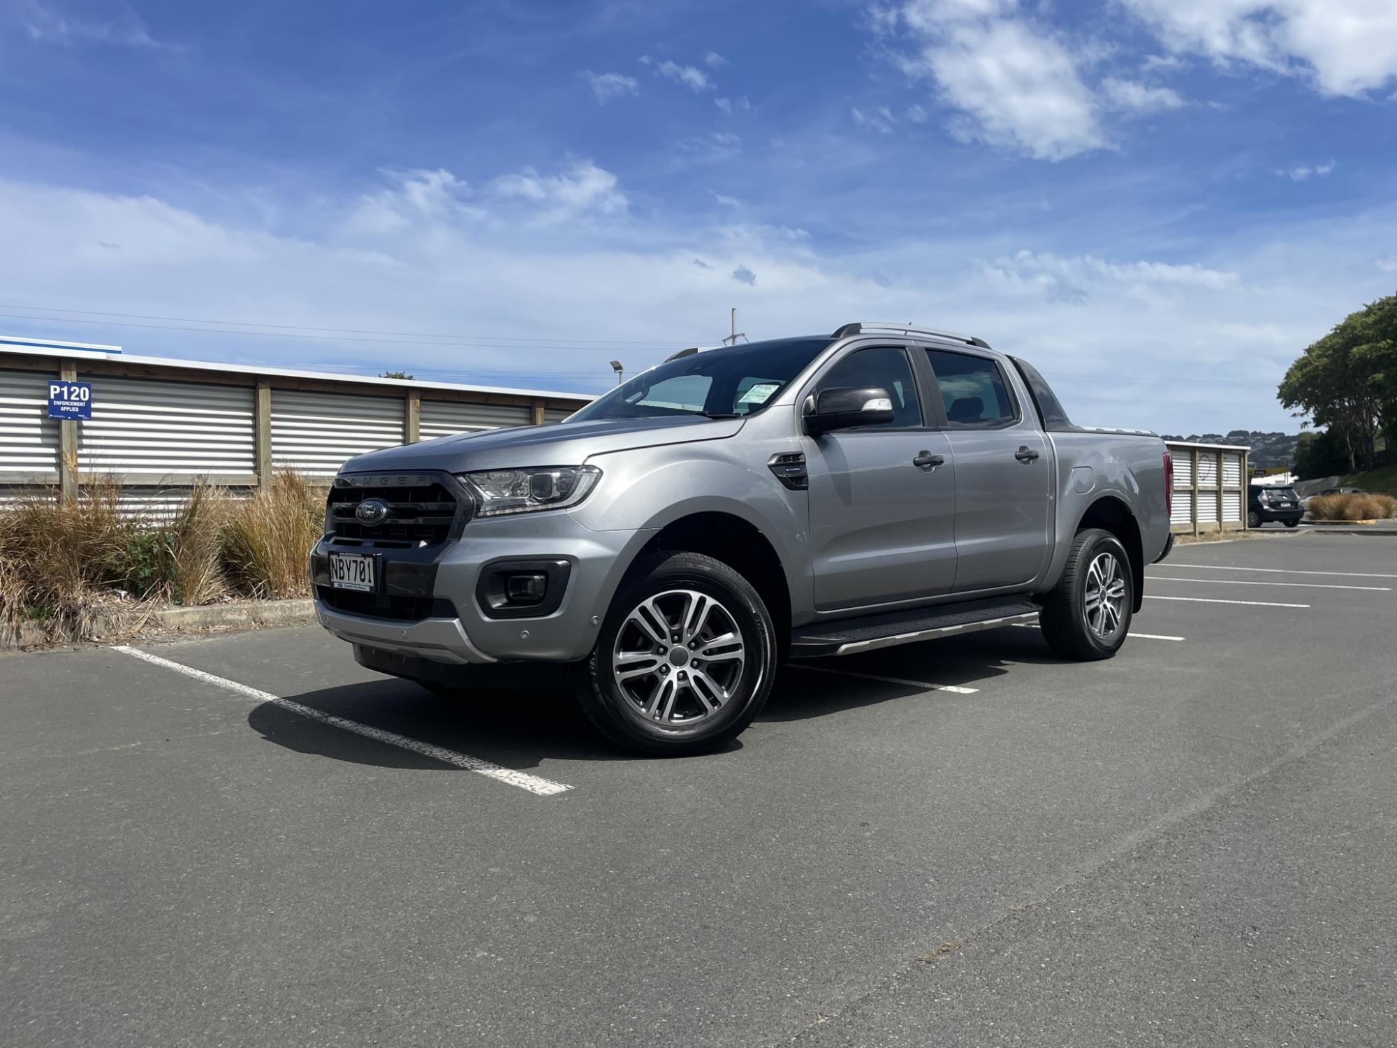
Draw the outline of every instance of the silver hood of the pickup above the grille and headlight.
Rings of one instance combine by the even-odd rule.
[[[581,465],[590,456],[637,447],[722,440],[742,429],[743,419],[698,416],[563,422],[546,426],[488,429],[482,433],[423,440],[356,456],[345,472],[407,470],[514,470],[524,465]]]

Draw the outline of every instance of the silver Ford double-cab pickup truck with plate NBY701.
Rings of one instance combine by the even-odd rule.
[[[310,570],[365,667],[450,692],[570,664],[608,738],[682,755],[746,728],[787,660],[1028,622],[1109,658],[1171,488],[1160,437],[1073,425],[1027,362],[845,324],[676,354],[562,425],[352,458]]]

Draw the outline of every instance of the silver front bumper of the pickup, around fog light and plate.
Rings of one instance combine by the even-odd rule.
[[[556,511],[476,518],[436,551],[373,549],[381,558],[381,584],[387,591],[434,601],[430,618],[416,620],[331,606],[324,599],[330,592],[328,552],[369,551],[324,538],[310,556],[316,615],[341,640],[436,662],[577,661],[591,653],[612,594],[652,534],[590,531],[569,513]],[[503,559],[567,562],[566,591],[557,609],[535,618],[488,615],[476,595],[476,583],[483,566]]]

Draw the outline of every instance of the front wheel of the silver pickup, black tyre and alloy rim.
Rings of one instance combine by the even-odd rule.
[[[710,556],[665,552],[616,592],[577,693],[617,746],[687,756],[742,734],[775,669],[771,615],[747,580]]]

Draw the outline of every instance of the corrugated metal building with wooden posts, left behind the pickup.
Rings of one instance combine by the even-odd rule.
[[[92,384],[92,418],[47,416],[50,381]],[[331,476],[380,447],[560,422],[591,397],[130,356],[0,341],[0,486],[70,488],[112,474],[136,489],[208,478],[256,486],[278,467]]]

